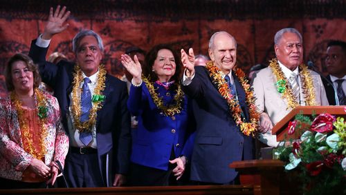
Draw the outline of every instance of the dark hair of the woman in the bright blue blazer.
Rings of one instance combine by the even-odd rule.
[[[145,78],[149,78],[150,82],[155,82],[158,80],[158,76],[155,72],[152,71],[152,67],[154,65],[154,61],[157,58],[158,51],[163,49],[170,50],[173,53],[176,69],[170,81],[176,81],[176,83],[179,83],[183,65],[181,64],[179,55],[174,52],[170,45],[167,44],[155,45],[154,48],[152,48],[152,50],[147,53],[147,55],[145,56],[145,65],[143,66],[143,76],[145,76]]]

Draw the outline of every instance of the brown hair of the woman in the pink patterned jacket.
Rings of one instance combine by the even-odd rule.
[[[15,90],[15,86],[12,83],[12,65],[17,61],[24,61],[26,65],[28,65],[28,69],[33,72],[34,76],[34,89],[39,87],[39,84],[41,83],[41,76],[39,76],[39,70],[37,68],[37,65],[33,62],[33,60],[28,57],[26,54],[15,54],[12,56],[8,63],[6,64],[4,76],[6,80],[6,88],[9,92],[12,92]]]

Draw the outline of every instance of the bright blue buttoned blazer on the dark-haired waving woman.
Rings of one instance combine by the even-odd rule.
[[[158,88],[163,102],[168,103],[174,98],[173,90],[165,90],[163,86],[154,84]],[[138,127],[134,133],[131,162],[154,167],[159,170],[168,170],[172,148],[176,157],[184,155],[188,158],[192,152],[194,121],[188,112],[188,99],[184,97],[181,113],[174,116],[165,116],[158,110],[147,86],[143,82],[140,87],[131,85],[129,111],[138,116]]]

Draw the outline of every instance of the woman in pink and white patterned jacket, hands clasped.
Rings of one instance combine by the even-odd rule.
[[[25,54],[5,70],[10,94],[0,99],[0,189],[53,185],[69,150],[57,99],[38,90],[41,77]]]

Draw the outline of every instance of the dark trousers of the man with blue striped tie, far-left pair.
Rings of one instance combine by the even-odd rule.
[[[106,187],[98,165],[98,154],[69,152],[64,174],[69,187]]]

